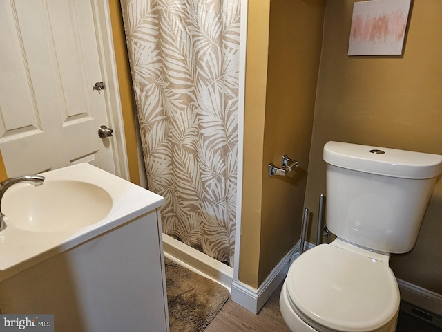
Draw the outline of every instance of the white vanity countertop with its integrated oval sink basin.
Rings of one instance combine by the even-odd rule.
[[[162,196],[88,163],[40,175],[45,177],[42,185],[16,183],[1,201],[7,227],[0,231],[0,283],[60,252],[124,228],[164,202]]]

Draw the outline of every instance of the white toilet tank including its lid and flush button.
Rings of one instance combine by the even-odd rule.
[[[381,252],[416,243],[442,156],[327,142],[327,228],[337,237]]]

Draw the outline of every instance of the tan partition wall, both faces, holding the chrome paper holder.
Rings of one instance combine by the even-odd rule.
[[[323,11],[322,0],[249,1],[239,279],[256,288],[300,236]],[[283,154],[300,169],[269,178]]]

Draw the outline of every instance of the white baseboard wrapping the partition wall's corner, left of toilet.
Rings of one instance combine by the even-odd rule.
[[[252,313],[258,313],[262,306],[264,306],[265,302],[267,302],[270,295],[273,294],[276,288],[287,276],[287,271],[289,270],[293,257],[299,250],[299,247],[300,243],[298,242],[296,243],[296,246],[291,248],[287,255],[280,260],[278,265],[273,268],[258,289],[239,281],[233,281],[231,284],[232,301],[240,304],[240,306],[243,306]]]

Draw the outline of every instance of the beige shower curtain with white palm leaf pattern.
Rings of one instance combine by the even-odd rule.
[[[232,266],[240,0],[122,0],[149,190],[166,234]]]

